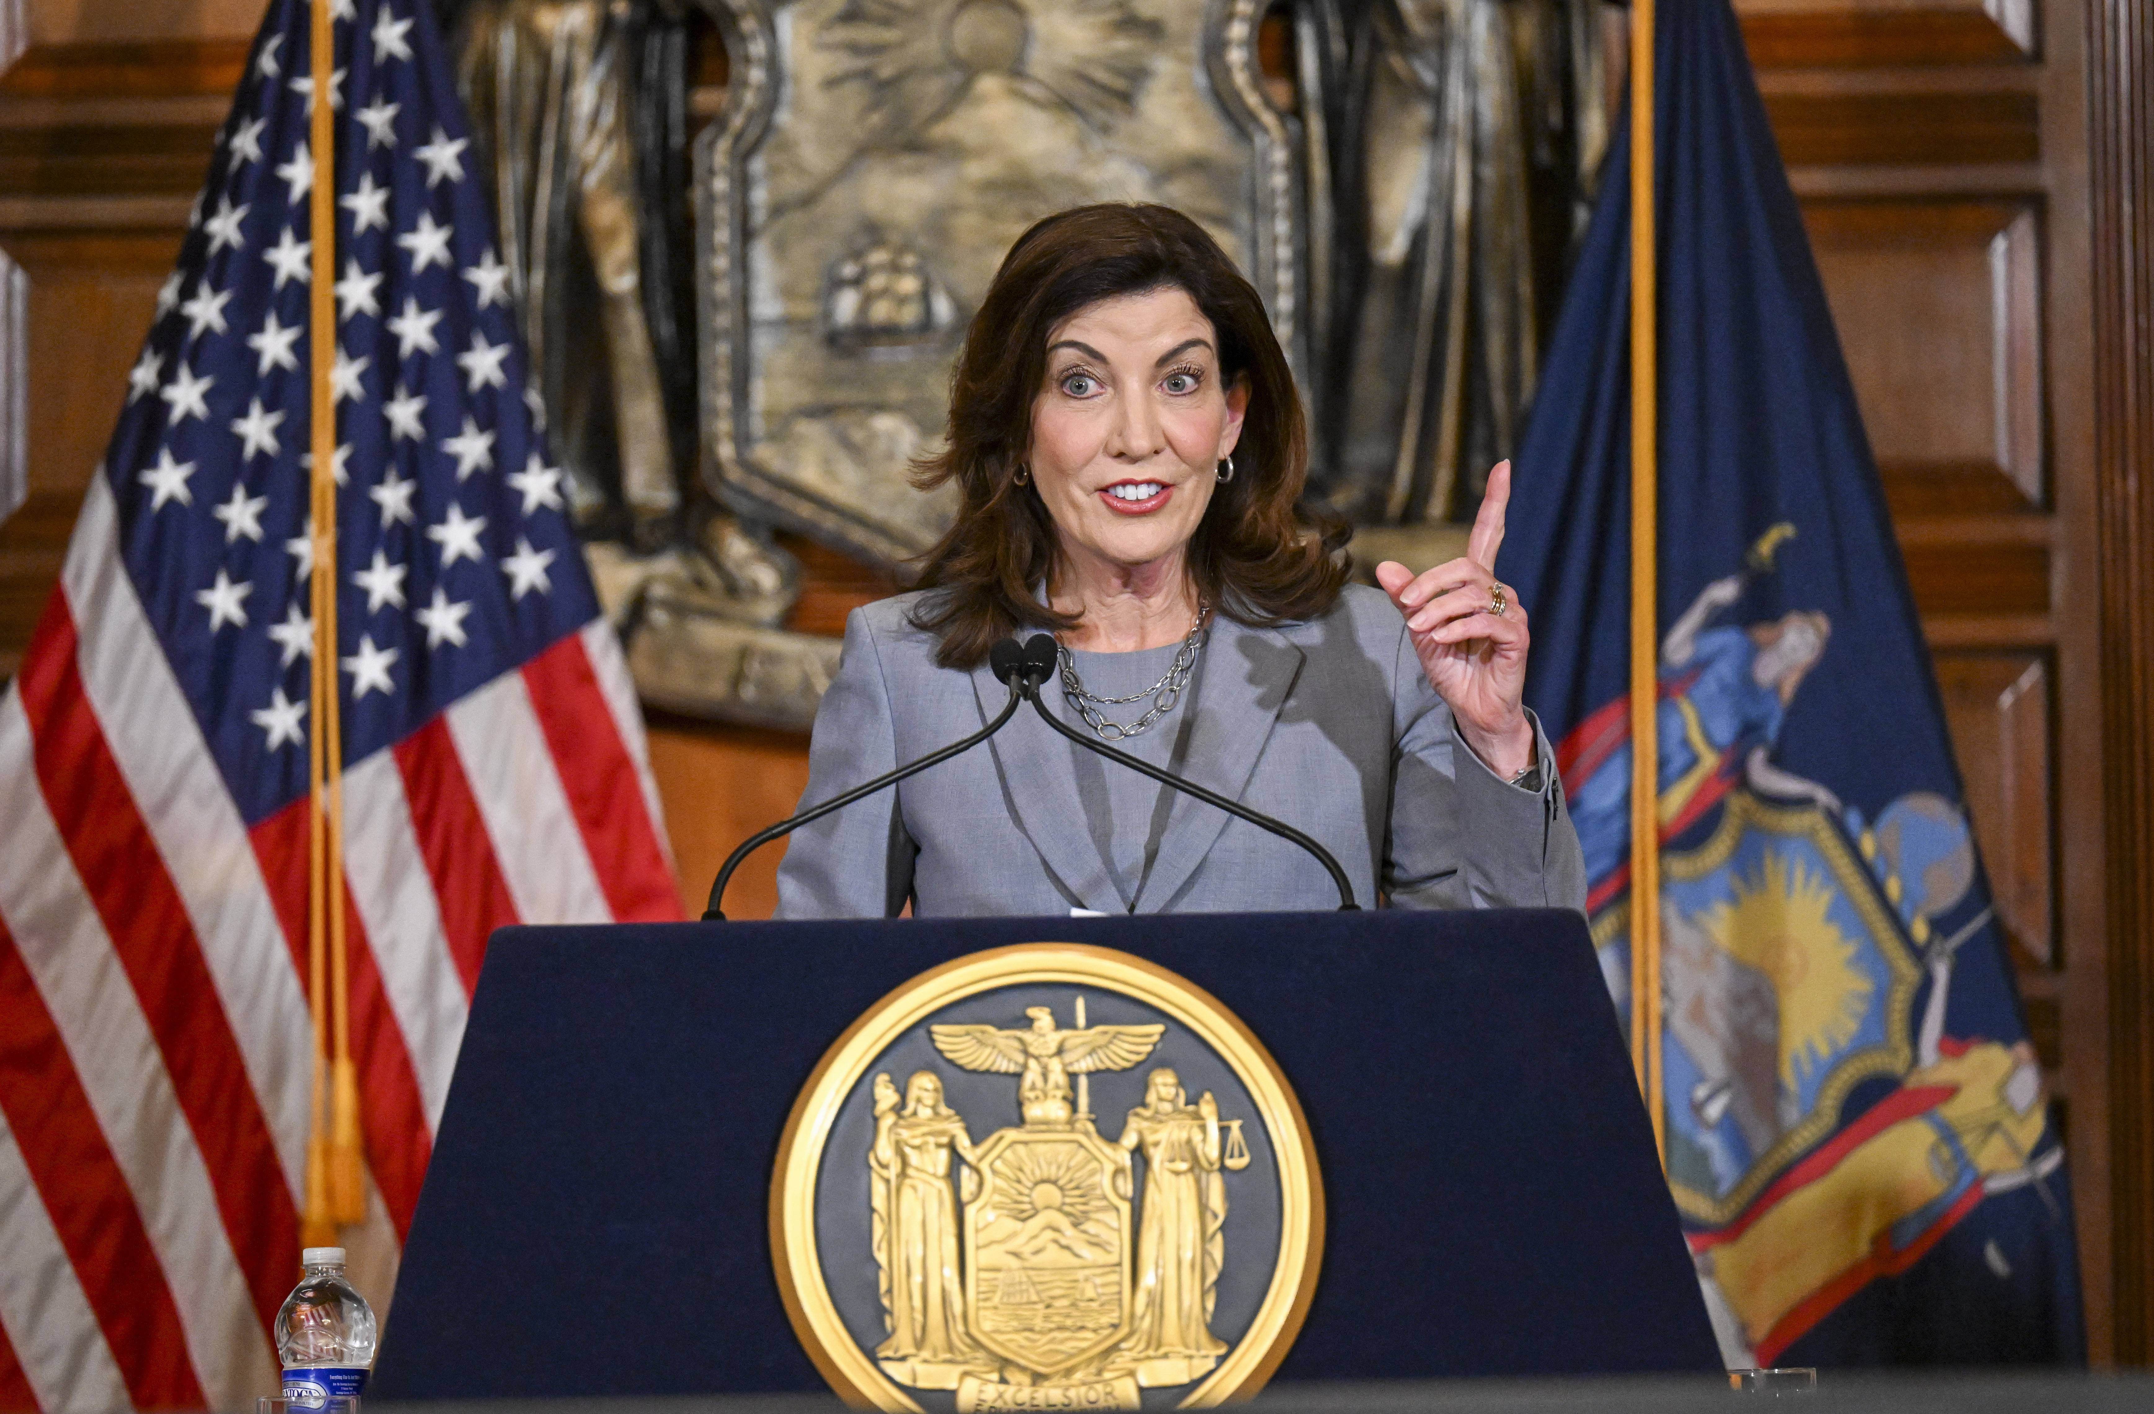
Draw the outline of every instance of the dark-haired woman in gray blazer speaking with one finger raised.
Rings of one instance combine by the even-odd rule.
[[[1307,431],[1264,306],[1178,211],[1032,226],[965,336],[956,524],[913,593],[855,610],[803,808],[978,731],[989,649],[1047,629],[1071,726],[1323,843],[1363,903],[1583,907],[1553,754],[1521,694],[1525,610],[1495,580],[1510,470],[1467,556],[1344,582],[1301,504]],[[1320,910],[1297,845],[1017,718],[803,826],[780,918]]]

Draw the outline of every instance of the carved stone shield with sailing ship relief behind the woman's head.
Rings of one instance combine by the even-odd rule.
[[[1303,349],[1299,129],[1258,0],[713,0],[732,54],[698,151],[704,438],[739,511],[896,565],[965,321],[1034,220],[1200,220]]]

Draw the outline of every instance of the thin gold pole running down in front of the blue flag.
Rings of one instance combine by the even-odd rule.
[[[1667,1164],[1661,1093],[1661,379],[1654,237],[1652,22],[1631,4],[1631,1065]]]

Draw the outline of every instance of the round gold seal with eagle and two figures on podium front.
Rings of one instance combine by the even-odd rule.
[[[855,1403],[1211,1405],[1299,1330],[1323,1190],[1286,1078],[1219,1002],[1025,944],[840,1037],[786,1127],[771,1233],[795,1330]]]

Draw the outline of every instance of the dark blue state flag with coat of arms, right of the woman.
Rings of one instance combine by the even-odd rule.
[[[1667,1177],[1732,1364],[2085,1358],[2064,1151],[1824,289],[1728,0],[1663,0]],[[1501,573],[1631,992],[1628,140]]]

